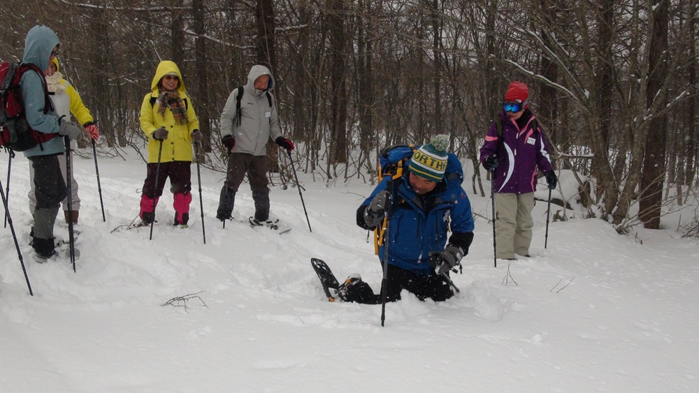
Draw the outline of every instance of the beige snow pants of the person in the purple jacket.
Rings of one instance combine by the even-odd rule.
[[[534,193],[495,193],[496,258],[528,255],[534,221]]]

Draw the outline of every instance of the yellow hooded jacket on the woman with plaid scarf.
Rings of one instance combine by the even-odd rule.
[[[175,124],[175,118],[169,107],[165,110],[165,117],[161,117],[158,113],[158,106],[160,105],[159,101],[157,101],[159,96],[158,83],[167,73],[176,73],[180,77],[178,92],[182,101],[185,101],[189,124]],[[148,162],[158,162],[160,141],[154,140],[150,134],[160,127],[165,127],[170,131],[168,138],[163,141],[160,162],[192,161],[192,138],[190,138],[190,135],[192,135],[192,131],[199,129],[199,120],[196,119],[192,100],[189,99],[185,92],[185,82],[182,80],[180,68],[173,61],[161,61],[155,71],[150,89],[151,92],[143,97],[143,103],[140,105],[140,129],[143,130],[148,138]]]

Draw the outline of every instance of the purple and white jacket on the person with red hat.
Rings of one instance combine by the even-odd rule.
[[[532,128],[533,115],[521,130],[505,112],[498,116],[503,121],[503,141],[498,141],[498,126],[493,121],[480,149],[480,162],[491,154],[498,156],[493,178],[496,193],[532,193],[537,168],[543,173],[553,170],[544,132],[539,126],[537,130]]]

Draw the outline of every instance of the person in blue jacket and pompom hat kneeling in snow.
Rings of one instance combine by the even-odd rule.
[[[402,177],[384,177],[357,209],[357,225],[367,230],[381,225],[390,212],[389,239],[379,248],[380,260],[388,258],[387,302],[401,299],[404,289],[420,300],[435,302],[454,295],[447,281],[449,270],[468,254],[474,227],[471,205],[461,187],[461,163],[447,154],[448,145],[447,135],[436,135],[415,151]],[[445,177],[445,172],[452,173]],[[389,184],[393,190],[387,189]],[[449,227],[452,235],[447,242]],[[345,302],[382,300],[359,274],[349,276],[338,295]]]

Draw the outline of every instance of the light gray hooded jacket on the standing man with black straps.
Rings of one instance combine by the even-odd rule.
[[[240,126],[236,119],[238,88],[231,91],[221,113],[221,138],[226,135],[233,135],[233,138],[236,138],[233,153],[264,156],[267,154],[265,147],[269,138],[276,140],[282,136],[277,121],[277,105],[274,96],[272,96],[272,107],[270,107],[266,91],[259,91],[254,87],[255,80],[260,75],[269,75],[266,91],[271,91],[274,87],[274,77],[267,67],[252,66],[250,73],[247,74],[243,98],[240,98]]]

